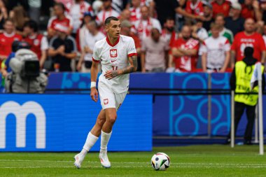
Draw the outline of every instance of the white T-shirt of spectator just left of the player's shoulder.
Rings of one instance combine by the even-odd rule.
[[[90,48],[90,50],[93,50],[95,43],[103,38],[105,38],[105,36],[100,31],[95,36],[93,36],[89,30],[86,30],[84,35],[84,45]],[[92,53],[86,53],[84,60],[92,61]]]

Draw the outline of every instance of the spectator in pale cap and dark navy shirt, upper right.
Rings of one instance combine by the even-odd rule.
[[[244,30],[244,18],[240,17],[240,3],[232,3],[230,15],[225,18],[225,27],[230,29],[234,36]]]

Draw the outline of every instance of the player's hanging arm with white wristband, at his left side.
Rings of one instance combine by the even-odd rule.
[[[92,68],[90,70],[90,77],[91,77],[90,79],[92,83],[95,83],[95,85],[91,85],[90,87],[90,97],[95,102],[97,102],[98,100],[98,92],[96,90],[97,74],[98,74],[98,63],[92,61]]]

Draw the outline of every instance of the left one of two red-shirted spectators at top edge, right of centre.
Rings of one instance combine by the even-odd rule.
[[[204,15],[202,1],[201,0],[186,1],[186,11],[193,15]]]

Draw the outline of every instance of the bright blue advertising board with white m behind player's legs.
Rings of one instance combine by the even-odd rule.
[[[81,150],[102,108],[88,94],[2,94],[0,105],[0,151]],[[152,150],[152,110],[151,95],[127,95],[108,149]]]

